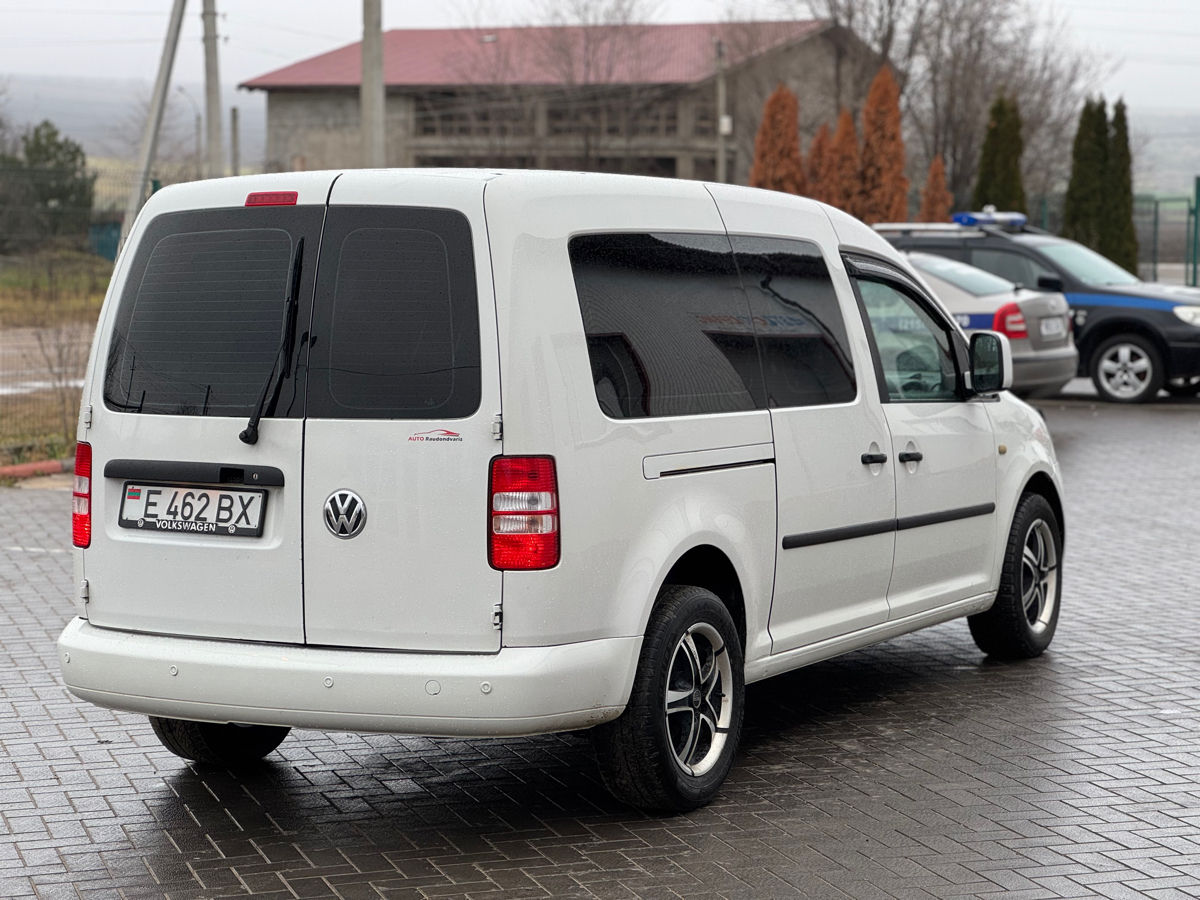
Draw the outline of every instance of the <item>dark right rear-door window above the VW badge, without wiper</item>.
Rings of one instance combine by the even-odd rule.
[[[458,419],[479,408],[470,226],[452,210],[331,208],[308,415]]]

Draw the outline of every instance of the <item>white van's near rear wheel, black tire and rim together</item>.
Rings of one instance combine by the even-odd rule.
[[[617,799],[683,812],[716,796],[742,736],[742,660],[737,628],[715,594],[664,588],[625,712],[592,730],[601,778]]]

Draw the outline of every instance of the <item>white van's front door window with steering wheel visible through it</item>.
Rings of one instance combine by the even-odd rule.
[[[955,400],[958,370],[950,335],[906,292],[889,282],[856,278],[893,401]]]

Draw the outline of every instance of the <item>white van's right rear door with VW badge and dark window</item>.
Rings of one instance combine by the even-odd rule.
[[[499,649],[484,185],[352,172],[330,194],[305,430],[308,643]]]

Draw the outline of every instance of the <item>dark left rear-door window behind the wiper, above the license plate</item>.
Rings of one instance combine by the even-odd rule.
[[[322,212],[292,206],[155,218],[118,307],[106,404],[163,415],[248,415],[278,353],[292,254],[306,233],[312,239],[300,295],[312,293]],[[295,396],[290,382],[289,372],[281,396]]]

